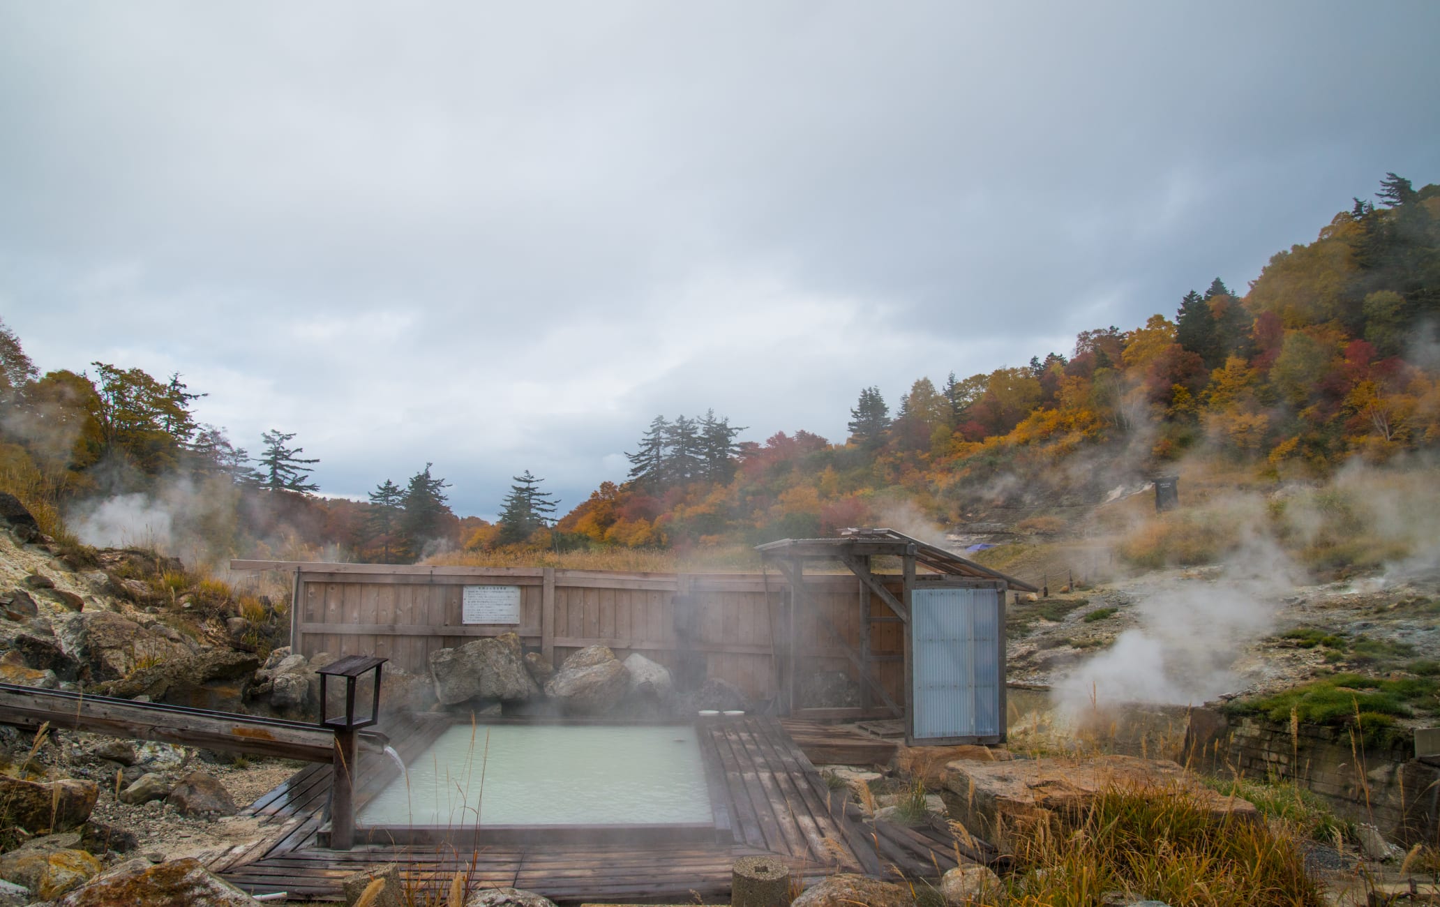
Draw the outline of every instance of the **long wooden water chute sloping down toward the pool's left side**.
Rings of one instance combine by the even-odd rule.
[[[333,733],[318,724],[12,684],[0,684],[0,720],[305,762],[330,762],[334,756]],[[384,746],[384,734],[364,736]]]

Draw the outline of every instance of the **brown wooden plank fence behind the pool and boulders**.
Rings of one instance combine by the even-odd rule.
[[[789,602],[785,577],[778,573],[243,560],[232,561],[232,569],[294,572],[291,638],[294,651],[307,656],[379,655],[425,674],[436,649],[516,632],[527,651],[541,652],[556,667],[588,645],[606,645],[619,658],[639,652],[672,671],[688,652],[704,658],[708,677],[727,680],[752,698],[778,692],[775,654],[783,651]],[[465,623],[465,586],[518,586],[518,625]],[[899,576],[891,586],[899,592]],[[904,701],[904,625],[855,576],[806,576],[795,625],[799,678],[844,671],[860,681],[854,652],[864,648],[861,636],[868,628],[874,678],[896,701]]]

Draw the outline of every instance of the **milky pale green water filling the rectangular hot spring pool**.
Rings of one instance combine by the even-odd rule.
[[[359,825],[713,822],[690,726],[456,724],[406,769]]]

